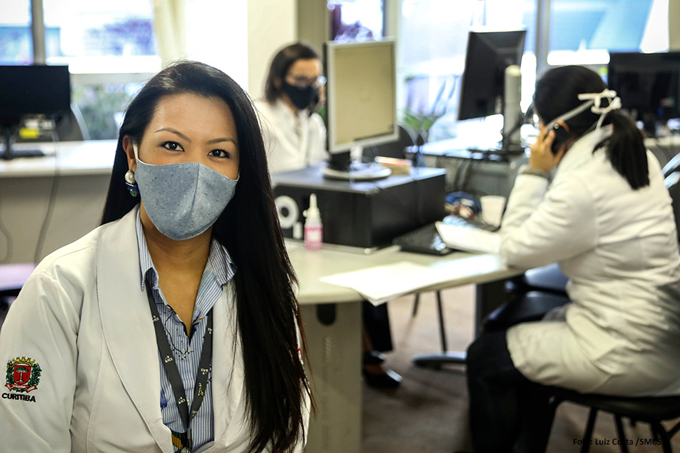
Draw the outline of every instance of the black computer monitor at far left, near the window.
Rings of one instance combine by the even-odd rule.
[[[0,133],[4,159],[13,157],[12,143],[24,116],[57,120],[71,108],[68,66],[0,66]]]

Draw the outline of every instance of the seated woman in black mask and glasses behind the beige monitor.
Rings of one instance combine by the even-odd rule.
[[[264,99],[255,102],[269,172],[302,169],[327,158],[326,127],[314,111],[321,81],[321,60],[310,46],[294,43],[274,55]],[[362,371],[366,382],[376,387],[396,387],[401,376],[382,367],[385,358],[379,352],[392,350],[387,305],[374,307],[364,302],[363,316]]]

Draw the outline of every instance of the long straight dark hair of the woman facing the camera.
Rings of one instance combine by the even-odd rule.
[[[140,143],[161,97],[190,92],[219,97],[231,109],[240,151],[236,193],[212,228],[236,264],[234,284],[238,333],[243,345],[251,452],[270,447],[292,451],[304,435],[305,393],[309,387],[298,354],[306,352],[297,283],[285,251],[267,171],[264,142],[250,98],[224,72],[198,62],[163,69],[132,100],[121,126],[102,224],[116,221],[139,202],[125,190],[128,162],[123,137]]]

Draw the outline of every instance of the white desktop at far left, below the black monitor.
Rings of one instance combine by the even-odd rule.
[[[47,155],[41,158],[0,160],[0,178],[54,176],[57,169],[61,176],[111,174],[116,144],[116,140],[15,144],[17,149],[38,148]]]

